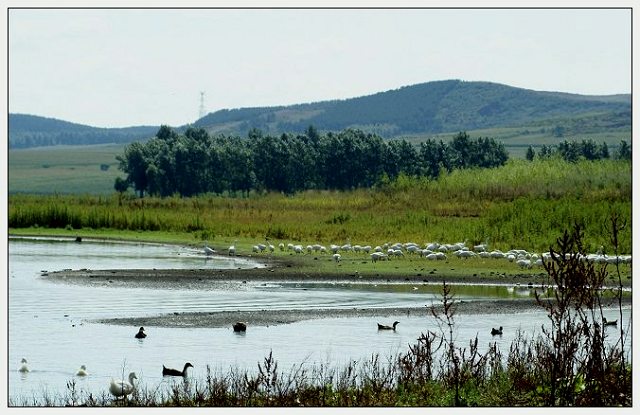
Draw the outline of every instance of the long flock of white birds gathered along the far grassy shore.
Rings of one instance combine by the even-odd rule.
[[[228,248],[229,255],[236,255],[235,242]],[[509,262],[513,262],[517,266],[523,269],[530,269],[534,266],[542,267],[543,261],[551,260],[550,252],[535,253],[528,252],[524,249],[511,249],[507,252],[501,250],[489,250],[488,244],[479,244],[472,247],[468,247],[465,242],[457,242],[453,244],[440,244],[438,242],[430,242],[424,245],[419,245],[415,242],[406,243],[385,243],[383,245],[377,245],[372,247],[371,245],[351,245],[346,243],[344,245],[331,244],[327,248],[325,245],[301,245],[281,242],[278,244],[278,249],[282,252],[288,251],[295,254],[331,254],[332,258],[336,262],[342,260],[342,255],[345,253],[355,253],[361,255],[368,255],[371,258],[371,262],[388,261],[393,258],[403,258],[408,256],[421,257],[429,261],[447,260],[449,256],[456,256],[458,258],[490,258],[490,259],[505,259]],[[276,247],[269,241],[265,243],[259,243],[253,245],[252,252],[261,253],[273,253]],[[205,250],[206,252],[206,250]],[[592,263],[599,264],[630,264],[631,255],[614,255],[609,256],[601,252],[595,254],[583,255],[579,254],[580,259]]]

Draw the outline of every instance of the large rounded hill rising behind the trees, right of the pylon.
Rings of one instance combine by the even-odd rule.
[[[522,126],[545,119],[587,114],[627,120],[631,95],[587,96],[540,92],[489,82],[459,80],[405,86],[359,98],[281,107],[241,108],[211,113],[195,125],[213,132],[245,134],[320,131],[349,127],[383,137]]]

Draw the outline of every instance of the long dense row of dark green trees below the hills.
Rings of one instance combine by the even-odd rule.
[[[472,139],[466,132],[449,143],[430,139],[416,147],[357,129],[319,134],[310,126],[280,136],[253,129],[242,138],[194,127],[179,134],[162,126],[147,142],[127,145],[117,159],[126,178],[117,178],[115,189],[131,186],[142,197],[347,190],[400,174],[436,178],[454,169],[497,167],[508,153],[493,138]]]

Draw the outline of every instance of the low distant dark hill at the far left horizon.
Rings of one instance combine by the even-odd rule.
[[[97,128],[36,115],[9,114],[9,147],[129,143],[152,137],[158,128]]]

